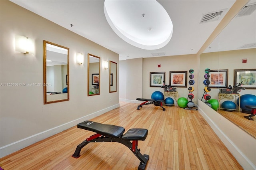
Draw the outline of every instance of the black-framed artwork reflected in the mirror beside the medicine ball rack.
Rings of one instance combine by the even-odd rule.
[[[228,69],[225,70],[211,70],[209,73],[209,80],[211,83],[209,87],[212,88],[228,88]]]

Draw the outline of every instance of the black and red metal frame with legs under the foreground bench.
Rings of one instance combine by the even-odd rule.
[[[122,140],[122,138],[110,138],[98,133],[90,136],[90,138],[87,138],[86,140],[84,140],[84,142],[79,144],[76,147],[75,153],[72,155],[72,157],[79,158],[81,149],[91,142],[118,142],[118,143],[124,144],[140,160],[140,165],[138,167],[138,170],[144,170],[146,168],[146,164],[149,160],[149,155],[146,155],[146,154],[142,155],[140,153],[140,149],[138,149],[138,140],[133,140],[132,142],[130,142],[128,140]]]

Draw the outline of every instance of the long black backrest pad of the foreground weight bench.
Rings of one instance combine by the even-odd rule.
[[[111,138],[119,138],[124,134],[125,130],[123,127],[115,125],[106,125],[92,121],[84,121],[82,123],[79,123],[77,127],[85,130],[90,130],[92,132],[96,132],[98,134],[102,134],[104,136],[108,136]]]

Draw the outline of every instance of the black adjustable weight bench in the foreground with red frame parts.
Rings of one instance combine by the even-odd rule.
[[[142,155],[140,149],[138,149],[138,140],[145,140],[148,136],[148,130],[144,128],[132,128],[125,134],[123,127],[115,125],[106,125],[102,123],[96,123],[92,121],[84,121],[77,125],[78,128],[90,130],[96,132],[96,134],[90,136],[84,142],[76,147],[76,150],[72,157],[79,158],[81,149],[90,142],[118,142],[127,146],[132,153],[140,160],[138,170],[144,170],[149,160],[149,155]],[[131,142],[132,141],[132,142]]]

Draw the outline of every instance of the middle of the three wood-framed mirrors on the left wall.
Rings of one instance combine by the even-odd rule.
[[[88,53],[88,96],[100,95],[100,57]]]

